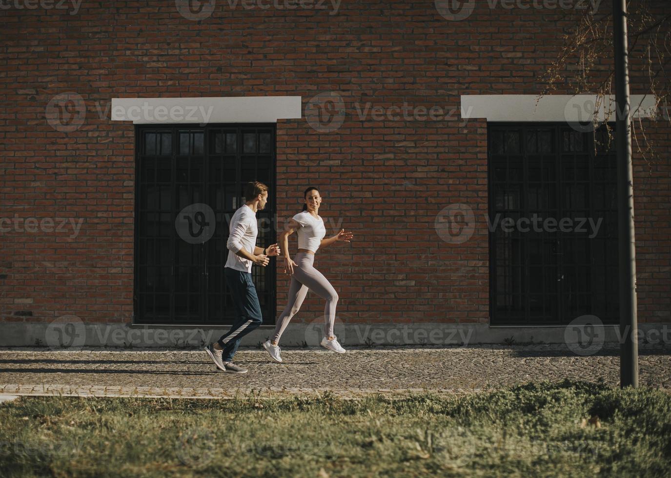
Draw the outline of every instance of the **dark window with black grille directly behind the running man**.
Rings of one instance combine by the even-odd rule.
[[[270,188],[256,244],[276,242],[275,125],[138,126],[136,166],[134,322],[231,324],[226,241],[249,181]],[[275,261],[252,278],[272,324]]]

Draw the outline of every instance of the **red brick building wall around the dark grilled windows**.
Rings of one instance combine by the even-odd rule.
[[[130,322],[134,126],[110,121],[112,98],[300,95],[305,106],[334,91],[347,111],[337,131],[315,131],[305,118],[278,122],[277,198],[280,219],[289,217],[315,185],[320,214],[355,233],[354,243],[315,259],[340,294],[338,316],[487,323],[486,224],[461,245],[433,228],[453,202],[487,211],[486,121],[361,121],[356,105],[458,110],[460,95],[535,95],[537,74],[574,20],[556,9],[491,10],[480,0],[464,21],[446,20],[433,1],[343,1],[333,15],[329,5],[231,9],[218,1],[200,22],[173,1],[87,1],[74,15],[0,10],[0,216],[84,219],[74,238],[72,227],[2,233],[0,320]],[[45,117],[66,92],[87,109],[67,133]],[[631,93],[644,91],[633,83]],[[654,124],[649,137],[662,159],[648,168],[635,158],[641,322],[668,320],[671,310],[670,129]],[[278,310],[287,286],[278,274]],[[295,320],[322,311],[309,296]]]

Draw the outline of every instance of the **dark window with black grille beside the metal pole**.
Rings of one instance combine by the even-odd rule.
[[[604,126],[488,125],[491,324],[619,322],[614,148]]]

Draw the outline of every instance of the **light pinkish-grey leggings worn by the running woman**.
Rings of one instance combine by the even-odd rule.
[[[287,328],[289,320],[299,311],[307,290],[312,290],[319,297],[326,300],[324,307],[324,334],[326,337],[333,335],[333,322],[335,322],[335,306],[338,304],[338,293],[335,292],[331,283],[313,267],[315,255],[307,252],[299,252],[293,257],[293,261],[298,267],[294,267],[294,273],[291,276],[291,286],[289,286],[289,300],[282,314],[277,319],[275,326],[275,335],[270,339],[272,342],[280,340],[280,335]]]

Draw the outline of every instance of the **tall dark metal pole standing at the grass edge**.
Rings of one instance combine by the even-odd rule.
[[[636,255],[633,223],[633,171],[631,166],[631,125],[629,123],[626,9],[625,0],[613,0],[621,388],[628,385],[638,387]]]

